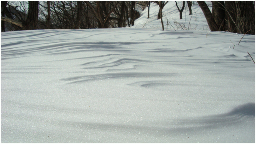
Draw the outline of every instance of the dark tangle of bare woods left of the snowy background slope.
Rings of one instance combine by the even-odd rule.
[[[130,27],[139,17],[136,9],[147,5],[146,1],[1,1],[2,16],[22,24],[6,27],[7,22],[1,21],[1,30]]]

